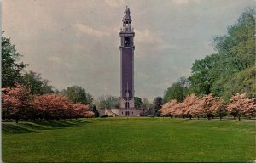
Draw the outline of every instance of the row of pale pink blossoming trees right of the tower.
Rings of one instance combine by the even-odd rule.
[[[160,115],[189,119],[192,117],[211,119],[214,116],[218,116],[221,120],[224,115],[230,114],[234,116],[234,119],[238,117],[240,121],[241,115],[247,117],[255,116],[255,108],[254,99],[246,98],[245,93],[237,93],[232,96],[228,104],[222,98],[213,97],[212,93],[201,98],[191,94],[183,102],[177,102],[176,99],[172,99],[164,104],[160,109]]]

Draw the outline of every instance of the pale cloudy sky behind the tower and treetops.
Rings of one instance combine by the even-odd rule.
[[[119,29],[125,6],[135,29],[135,95],[152,100],[195,59],[215,53],[254,0],[3,0],[2,30],[29,64],[55,88],[84,87],[119,97]]]

